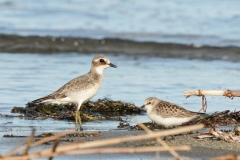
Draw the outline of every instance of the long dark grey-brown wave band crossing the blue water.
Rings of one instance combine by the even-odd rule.
[[[0,34],[2,53],[104,53],[199,60],[240,61],[240,47],[195,46],[174,43],[75,37],[41,37]]]

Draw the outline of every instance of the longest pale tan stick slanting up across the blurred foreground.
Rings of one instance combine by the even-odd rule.
[[[193,130],[199,130],[202,128],[204,128],[204,125],[198,124],[198,125],[187,126],[187,127],[182,127],[182,128],[169,129],[167,131],[154,132],[152,134],[112,138],[112,139],[99,140],[99,141],[93,141],[93,142],[87,142],[87,143],[66,144],[66,145],[59,146],[56,149],[56,153],[68,152],[68,151],[72,151],[75,149],[85,149],[85,148],[92,148],[92,147],[114,145],[114,144],[119,144],[119,143],[124,143],[124,142],[130,142],[130,141],[141,141],[141,140],[147,140],[147,139],[154,139],[157,137],[169,136],[169,135],[173,135],[173,134],[184,133],[184,132],[189,132],[189,131],[193,131]],[[21,159],[27,159],[27,158],[32,159],[32,158],[40,158],[40,157],[49,157],[51,152],[52,152],[52,149],[45,149],[45,150],[33,152],[31,154],[28,154],[27,156],[8,157],[8,160],[12,160],[12,159],[20,160],[20,158]]]

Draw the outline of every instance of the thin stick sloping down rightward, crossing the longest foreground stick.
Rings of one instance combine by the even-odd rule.
[[[140,126],[142,129],[144,129],[148,134],[153,133],[149,128],[147,128],[144,124],[139,122],[137,119],[134,119],[134,121],[136,124],[138,124],[138,126]],[[169,147],[168,144],[165,143],[161,138],[156,138],[156,141],[158,143],[160,143],[165,149],[167,149],[176,159],[182,160],[180,155],[175,150],[173,150],[171,147]]]

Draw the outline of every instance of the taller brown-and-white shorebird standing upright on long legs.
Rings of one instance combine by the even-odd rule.
[[[52,103],[65,104],[74,103],[76,108],[76,131],[78,131],[78,122],[80,130],[82,122],[80,117],[80,107],[82,103],[89,100],[98,92],[103,81],[103,70],[108,67],[117,68],[116,65],[110,63],[110,60],[105,56],[96,56],[92,60],[91,69],[88,73],[76,77],[63,85],[57,91],[32,101],[33,103]]]

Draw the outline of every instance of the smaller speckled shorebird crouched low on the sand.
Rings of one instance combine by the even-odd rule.
[[[186,110],[176,104],[149,97],[144,102],[149,119],[165,127],[177,126],[188,122],[201,114]]]

